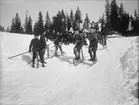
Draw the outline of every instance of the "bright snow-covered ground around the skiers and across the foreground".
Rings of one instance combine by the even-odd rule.
[[[87,46],[86,60],[72,64],[72,44],[63,45],[64,57],[47,59],[45,68],[31,68],[30,53],[8,59],[28,51],[32,38],[0,32],[0,105],[138,105],[139,37],[110,38],[109,51],[99,45],[92,67]]]

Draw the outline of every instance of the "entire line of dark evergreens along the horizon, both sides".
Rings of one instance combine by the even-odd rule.
[[[107,32],[119,32],[122,35],[125,35],[127,32],[134,32],[139,34],[139,14],[134,12],[134,16],[125,12],[124,6],[121,3],[119,6],[116,3],[116,0],[106,0],[105,4],[105,13],[98,19],[99,22],[105,24]],[[25,22],[22,25],[19,14],[16,13],[15,18],[12,19],[12,24],[6,29],[12,33],[25,33],[25,34],[41,34],[44,30],[53,30],[63,32],[65,30],[69,31],[70,27],[73,27],[73,30],[80,28],[80,23],[85,23],[83,27],[89,27],[93,22],[89,19],[88,14],[82,19],[82,13],[79,7],[77,7],[75,13],[73,10],[70,13],[65,12],[64,10],[58,11],[58,13],[50,18],[49,12],[46,12],[45,20],[43,20],[42,12],[39,11],[38,19],[35,21],[35,24],[32,25],[32,18],[28,16],[26,11]],[[1,26],[2,27],[2,26]],[[0,27],[0,30],[3,28]],[[81,28],[82,29],[82,28]]]

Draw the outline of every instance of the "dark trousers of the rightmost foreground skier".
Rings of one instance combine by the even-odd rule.
[[[90,58],[93,61],[95,61],[97,59],[97,56],[96,56],[97,48],[98,48],[98,41],[96,39],[91,40],[89,49],[88,49],[88,53],[90,54]],[[93,55],[92,55],[92,52],[93,52]]]

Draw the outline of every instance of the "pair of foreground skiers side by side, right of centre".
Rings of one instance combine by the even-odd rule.
[[[96,62],[97,61],[96,51],[98,48],[99,34],[96,32],[94,27],[91,27],[89,33],[87,34],[87,37],[89,40],[89,47],[88,47],[88,53],[90,55],[89,61]],[[83,45],[84,45],[84,32],[75,31],[75,47],[74,47],[75,60],[81,59],[80,54]]]

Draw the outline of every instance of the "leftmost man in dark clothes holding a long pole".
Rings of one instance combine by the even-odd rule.
[[[33,52],[32,56],[32,67],[35,67],[35,59],[39,55],[40,61],[42,63],[42,67],[45,67],[44,65],[44,58],[43,58],[43,53],[42,53],[42,42],[38,39],[38,35],[34,35],[34,38],[31,40],[30,45],[29,45],[29,52]]]

